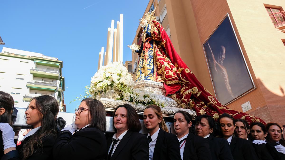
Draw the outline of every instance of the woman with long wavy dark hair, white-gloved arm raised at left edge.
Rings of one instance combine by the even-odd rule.
[[[17,148],[13,141],[14,132],[7,123],[0,123],[4,142],[2,160],[52,159],[52,147],[57,136],[56,116],[59,112],[57,100],[49,95],[31,99],[25,112],[27,124],[32,130],[24,136]],[[14,147],[11,147],[14,143]],[[5,149],[5,145],[9,148]]]

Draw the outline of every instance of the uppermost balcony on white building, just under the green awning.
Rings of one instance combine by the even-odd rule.
[[[33,74],[34,77],[59,79],[59,71],[51,71],[46,68],[33,67],[30,73]]]

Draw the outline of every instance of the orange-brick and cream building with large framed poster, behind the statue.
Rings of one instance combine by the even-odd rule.
[[[218,100],[223,98],[219,91],[220,81],[215,81],[212,61],[207,56],[211,50],[215,55],[215,50],[219,51],[218,48],[223,46],[226,55],[223,64],[228,64],[224,67],[228,69],[232,91],[245,85],[239,83],[246,79],[238,74],[242,67],[248,79],[245,82],[249,83],[245,91],[223,104],[258,116],[265,122],[285,124],[284,0],[150,0],[142,17],[153,11],[158,2],[156,19],[166,30],[182,60],[208,91]],[[226,21],[228,28],[222,30]],[[223,40],[218,39],[225,36],[226,30],[231,34]],[[139,42],[141,33],[138,23],[133,43]],[[235,44],[228,45],[227,38],[231,37]],[[219,44],[219,41],[224,44]],[[235,67],[235,60],[230,59],[232,48],[227,46],[238,48],[242,67]],[[137,53],[133,53],[132,64],[135,73],[139,64]]]

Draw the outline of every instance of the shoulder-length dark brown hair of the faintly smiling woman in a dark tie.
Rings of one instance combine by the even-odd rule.
[[[124,105],[119,105],[117,106],[117,108],[115,109],[114,113],[113,113],[113,119],[115,117],[115,113],[117,111],[118,108],[120,107],[124,107],[127,110],[127,125],[128,125],[128,129],[130,131],[133,132],[140,132],[142,126],[141,126],[141,122],[139,120],[139,115],[137,114],[137,111],[135,110],[135,108],[133,108],[131,105],[125,103]],[[113,123],[114,126],[114,123]],[[115,126],[114,126],[115,128]],[[116,128],[115,131],[117,132]]]

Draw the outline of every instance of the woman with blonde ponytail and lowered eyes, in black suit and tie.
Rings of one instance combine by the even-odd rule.
[[[181,159],[177,137],[168,133],[162,112],[157,105],[148,105],[143,112],[144,126],[149,130],[149,160]]]

